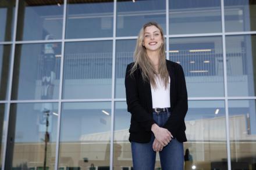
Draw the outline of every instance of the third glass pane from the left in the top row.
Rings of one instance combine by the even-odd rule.
[[[66,38],[113,37],[113,1],[67,1]]]

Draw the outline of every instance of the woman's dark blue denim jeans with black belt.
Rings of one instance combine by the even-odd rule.
[[[153,118],[158,126],[162,127],[170,116],[169,112],[155,113]],[[152,149],[155,136],[152,133],[149,143],[131,142],[131,154],[133,157],[134,170],[154,170],[156,152]],[[172,139],[167,146],[159,151],[161,167],[163,170],[182,170],[183,169],[183,143],[176,138]]]

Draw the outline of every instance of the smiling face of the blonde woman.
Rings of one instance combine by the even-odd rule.
[[[160,30],[155,26],[145,27],[143,46],[148,52],[157,51],[163,44]]]

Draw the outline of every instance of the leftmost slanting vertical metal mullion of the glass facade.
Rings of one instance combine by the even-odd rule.
[[[6,124],[3,127],[4,132],[4,143],[2,151],[2,169],[5,169],[5,158],[6,158],[6,149],[7,149],[7,140],[8,140],[8,129],[9,129],[9,117],[10,117],[10,97],[12,93],[12,78],[13,78],[13,67],[14,67],[14,58],[15,58],[15,38],[17,32],[17,13],[19,8],[19,0],[15,1],[15,17],[14,17],[14,26],[13,26],[13,37],[12,37],[12,53],[10,59],[10,77],[9,77],[9,89],[8,89],[8,103],[7,103],[7,113],[6,113]]]

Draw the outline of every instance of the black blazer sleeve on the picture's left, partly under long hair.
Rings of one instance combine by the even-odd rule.
[[[132,76],[130,75],[131,67],[132,64],[127,66],[125,75],[127,111],[131,113],[131,117],[133,117],[145,131],[151,131],[151,126],[155,121],[151,117],[151,114],[147,113],[145,108],[140,104],[137,89],[138,80],[135,72]]]

